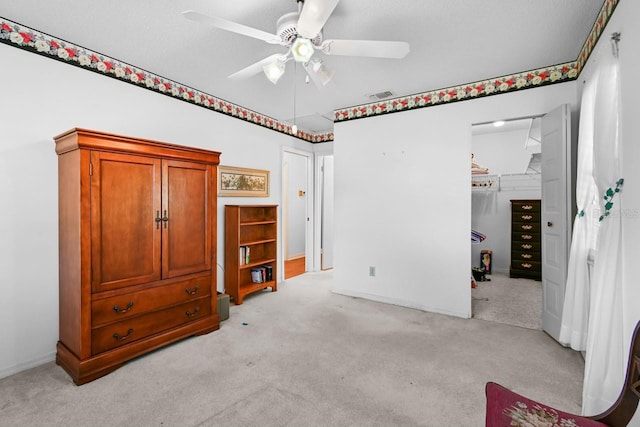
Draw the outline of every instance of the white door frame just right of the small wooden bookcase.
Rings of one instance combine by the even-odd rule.
[[[305,177],[306,180],[306,188],[307,188],[307,194],[306,194],[306,205],[305,205],[305,210],[306,210],[306,214],[307,214],[307,222],[306,222],[306,227],[305,227],[305,270],[306,271],[314,271],[315,269],[315,256],[314,256],[314,247],[315,247],[315,236],[314,236],[314,225],[315,225],[315,211],[314,211],[314,201],[315,201],[315,188],[314,188],[314,166],[315,166],[315,155],[314,153],[310,152],[310,151],[304,151],[304,150],[300,150],[297,148],[292,148],[292,147],[282,147],[282,159],[281,159],[281,170],[282,170],[282,182],[281,182],[281,194],[282,194],[282,198],[284,201],[284,197],[285,197],[285,192],[286,192],[286,185],[287,185],[287,180],[288,180],[288,176],[285,176],[285,153],[290,153],[290,154],[296,154],[299,156],[303,156],[306,158],[306,162],[307,162],[307,176]],[[286,242],[285,242],[285,236],[286,236],[286,227],[287,224],[285,222],[285,218],[286,218],[286,212],[285,212],[285,206],[284,203],[282,203],[282,230],[281,230],[281,236],[282,236],[282,245],[280,245],[280,259],[281,261],[281,268],[282,268],[282,277],[284,278],[284,274],[285,274],[285,267],[284,267],[284,262],[285,262],[285,247],[286,247]]]

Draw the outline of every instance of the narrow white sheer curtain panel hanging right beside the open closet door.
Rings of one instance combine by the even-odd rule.
[[[578,164],[576,171],[576,204],[578,213],[573,222],[571,252],[567,271],[567,284],[562,310],[559,340],[572,349],[587,349],[589,322],[589,253],[595,250],[598,231],[599,207],[597,188],[593,179],[593,115],[597,73],[582,90]]]

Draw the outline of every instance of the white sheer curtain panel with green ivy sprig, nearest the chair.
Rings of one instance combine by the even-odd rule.
[[[594,415],[616,400],[626,368],[622,316],[622,178],[619,152],[619,67],[602,55],[594,114],[593,173],[601,221],[591,281],[582,412]]]

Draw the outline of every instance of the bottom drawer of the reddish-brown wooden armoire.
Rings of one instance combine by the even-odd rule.
[[[111,323],[91,331],[91,352],[96,355],[210,314],[209,296]]]

